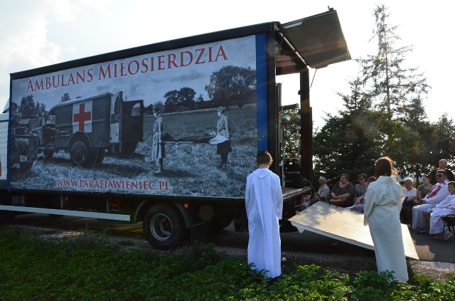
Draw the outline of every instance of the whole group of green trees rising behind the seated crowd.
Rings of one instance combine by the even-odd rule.
[[[349,83],[350,95],[339,94],[343,108],[338,116],[327,115],[316,132],[314,178],[326,174],[333,184],[343,172],[371,176],[375,160],[387,155],[401,176],[416,176],[419,184],[439,159],[455,156],[454,122],[446,115],[436,123],[426,120],[427,78],[403,67],[412,47],[398,45],[385,6],[377,6],[374,16],[377,52],[357,60],[361,72]]]

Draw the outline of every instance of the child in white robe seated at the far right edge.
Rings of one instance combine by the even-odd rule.
[[[441,220],[441,216],[455,215],[455,181],[450,181],[447,184],[449,190],[449,196],[437,204],[433,209],[432,214],[429,218],[429,233],[440,234],[444,229],[444,221]],[[449,230],[446,230],[444,235],[451,236]]]

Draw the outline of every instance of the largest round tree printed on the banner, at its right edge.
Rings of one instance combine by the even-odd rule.
[[[242,108],[246,103],[255,102],[256,72],[250,67],[225,66],[212,73],[205,90],[218,106]]]

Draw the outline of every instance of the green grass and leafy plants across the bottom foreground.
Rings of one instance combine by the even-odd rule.
[[[196,243],[181,255],[121,251],[107,233],[45,241],[36,232],[0,228],[0,300],[454,300],[455,276],[346,275],[292,265],[268,285],[244,258]]]

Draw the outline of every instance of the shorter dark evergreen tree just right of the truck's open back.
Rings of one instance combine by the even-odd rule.
[[[350,95],[338,93],[343,100],[339,115],[328,115],[314,137],[314,170],[326,174],[332,183],[342,173],[373,175],[374,160],[383,149],[378,139],[382,114],[370,110],[370,97],[361,90],[359,78],[349,84]]]

